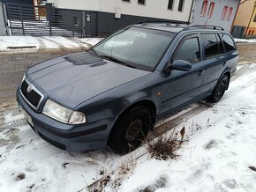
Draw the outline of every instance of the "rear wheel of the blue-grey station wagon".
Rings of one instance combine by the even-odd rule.
[[[228,89],[229,84],[230,78],[226,74],[223,75],[222,78],[219,80],[218,84],[215,86],[215,89],[212,92],[212,94],[209,97],[207,97],[207,101],[216,103],[219,100],[221,100],[225,91]]]

